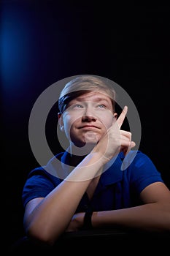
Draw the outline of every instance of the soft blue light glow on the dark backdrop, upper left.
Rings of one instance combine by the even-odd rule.
[[[3,91],[16,89],[28,75],[31,34],[26,12],[15,4],[1,11],[1,81]]]

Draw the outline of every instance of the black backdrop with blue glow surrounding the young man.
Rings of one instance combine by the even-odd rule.
[[[1,207],[9,243],[23,235],[23,184],[39,165],[28,140],[31,109],[63,78],[100,75],[127,91],[142,122],[140,149],[170,188],[170,8],[115,3],[1,1]],[[57,153],[55,129],[48,138]]]

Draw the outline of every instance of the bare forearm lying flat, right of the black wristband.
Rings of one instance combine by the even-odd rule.
[[[170,231],[169,206],[148,203],[112,211],[93,212],[92,225],[100,227],[131,227],[141,230]]]

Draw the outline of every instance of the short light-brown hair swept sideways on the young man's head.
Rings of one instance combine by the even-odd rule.
[[[99,78],[94,75],[80,75],[70,80],[63,87],[58,99],[59,111],[63,113],[72,99],[83,94],[88,94],[90,91],[99,91],[107,94],[112,101],[113,110],[115,110],[115,89],[113,89],[109,80],[107,78]]]

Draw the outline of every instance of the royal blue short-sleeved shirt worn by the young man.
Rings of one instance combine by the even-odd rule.
[[[89,204],[93,211],[139,206],[142,204],[139,196],[142,190],[154,182],[163,182],[161,173],[146,154],[141,151],[131,151],[128,155],[132,157],[127,157],[126,164],[129,159],[132,160],[127,167],[122,168],[124,160],[122,152],[112,164],[108,165],[109,167],[101,174],[93,198],[89,201],[85,193],[77,207],[77,212],[85,211]],[[23,187],[24,207],[33,198],[45,197],[63,181],[64,175],[68,173],[66,167],[69,166],[69,157],[67,152],[62,152],[50,159],[44,167],[31,170]]]

